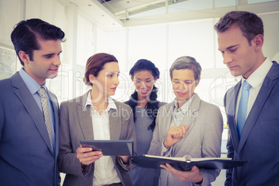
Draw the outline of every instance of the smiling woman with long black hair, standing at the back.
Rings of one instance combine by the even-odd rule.
[[[154,83],[160,77],[160,71],[149,60],[138,60],[130,69],[135,92],[126,104],[133,110],[135,131],[137,133],[137,154],[146,154],[152,140],[158,108],[165,103],[157,101],[158,88]],[[135,167],[130,171],[133,185],[158,185],[160,170]]]

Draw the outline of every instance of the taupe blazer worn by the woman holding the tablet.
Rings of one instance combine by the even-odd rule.
[[[63,185],[92,186],[94,162],[81,167],[76,158],[76,149],[80,140],[94,140],[90,105],[86,106],[87,92],[74,100],[62,102],[60,105],[60,151],[58,154],[59,170],[66,174]],[[115,101],[115,100],[114,100]],[[135,125],[133,112],[129,105],[115,101],[117,110],[110,109],[110,140],[133,140],[136,149]],[[122,185],[132,185],[128,172],[133,164],[123,164],[120,158],[112,156],[117,174]]]

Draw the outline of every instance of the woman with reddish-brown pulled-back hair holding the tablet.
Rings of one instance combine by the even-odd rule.
[[[61,103],[58,167],[66,174],[63,185],[132,185],[128,171],[135,165],[128,156],[103,156],[80,144],[80,140],[133,140],[136,148],[132,110],[110,98],[119,85],[118,76],[115,56],[96,53],[85,69],[85,84],[92,90]]]

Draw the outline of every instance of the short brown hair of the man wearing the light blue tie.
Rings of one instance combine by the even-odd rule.
[[[214,28],[217,33],[223,33],[233,24],[239,26],[249,44],[251,44],[251,40],[253,40],[256,35],[264,35],[264,24],[262,23],[262,19],[252,12],[245,11],[232,11],[226,13],[226,15],[219,19],[219,22],[215,24]]]

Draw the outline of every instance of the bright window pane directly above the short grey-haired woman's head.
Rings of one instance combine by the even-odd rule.
[[[180,56],[192,56],[203,69],[214,68],[213,21],[169,25],[168,67]]]

